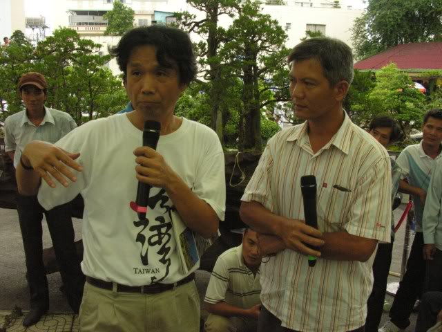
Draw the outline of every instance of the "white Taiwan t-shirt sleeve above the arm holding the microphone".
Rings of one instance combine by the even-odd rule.
[[[192,191],[224,220],[226,209],[226,178],[224,152],[220,140],[213,131],[206,131],[206,151],[198,165]]]

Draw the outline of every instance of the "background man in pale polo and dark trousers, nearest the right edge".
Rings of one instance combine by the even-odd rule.
[[[380,332],[397,332],[410,325],[410,314],[414,303],[423,291],[425,260],[423,259],[422,219],[428,185],[436,160],[442,158],[442,110],[432,109],[425,113],[422,126],[422,140],[419,144],[403,149],[396,159],[407,181],[399,183],[399,191],[411,194],[414,203],[416,234],[407,261],[407,270],[390,309],[390,320],[379,329]]]

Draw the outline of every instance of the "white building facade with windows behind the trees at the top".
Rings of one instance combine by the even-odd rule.
[[[52,30],[58,26],[68,26],[79,35],[102,44],[101,53],[108,54],[108,46],[113,46],[119,37],[104,36],[107,21],[103,15],[113,8],[114,0],[57,0]],[[189,6],[185,0],[122,0],[125,6],[135,12],[135,26],[168,24],[173,21],[173,12],[187,10],[202,19],[204,13]],[[264,0],[262,12],[276,19],[289,37],[287,47],[294,47],[305,37],[306,31],[320,31],[329,37],[342,39],[352,46],[351,31],[354,19],[363,14],[363,8],[354,7],[354,0]],[[356,1],[357,2],[357,1]],[[220,26],[228,27],[232,18],[222,15]],[[198,36],[191,36],[198,42]],[[119,73],[113,59],[109,68],[115,75]]]

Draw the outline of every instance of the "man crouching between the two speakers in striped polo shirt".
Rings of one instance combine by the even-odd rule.
[[[246,228],[242,244],[218,257],[213,268],[206,302],[206,332],[256,331],[260,314],[261,254],[257,233]]]

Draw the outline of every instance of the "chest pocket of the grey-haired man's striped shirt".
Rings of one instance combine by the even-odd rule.
[[[322,188],[318,197],[318,224],[323,232],[344,230],[347,214],[354,198],[349,185],[333,185]]]

